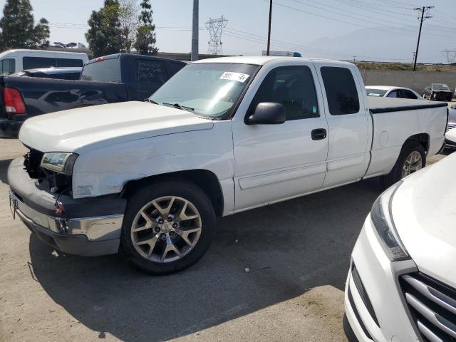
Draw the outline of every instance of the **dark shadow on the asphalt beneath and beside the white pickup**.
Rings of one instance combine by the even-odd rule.
[[[177,338],[315,286],[343,290],[353,244],[379,193],[368,180],[221,218],[205,257],[170,276],[140,274],[118,256],[56,257],[31,236],[33,276],[102,337]]]

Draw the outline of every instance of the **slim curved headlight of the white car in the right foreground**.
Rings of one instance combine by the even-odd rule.
[[[391,261],[410,259],[403,243],[400,241],[398,232],[395,229],[393,216],[391,214],[391,202],[402,181],[395,183],[380,195],[374,202],[371,210],[371,219],[374,231],[380,245]]]

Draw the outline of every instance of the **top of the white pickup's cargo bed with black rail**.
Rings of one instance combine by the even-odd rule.
[[[446,107],[446,102],[429,100],[413,100],[408,98],[376,98],[368,96],[367,108],[371,113],[400,112],[403,110],[418,110],[427,108]]]

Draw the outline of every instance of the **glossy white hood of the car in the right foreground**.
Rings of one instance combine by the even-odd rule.
[[[456,288],[456,153],[406,178],[393,220],[418,269]]]

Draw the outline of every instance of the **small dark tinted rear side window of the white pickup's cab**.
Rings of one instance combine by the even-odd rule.
[[[328,98],[331,115],[345,115],[359,112],[358,90],[348,68],[321,67],[321,77]]]

